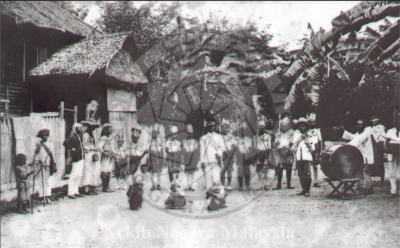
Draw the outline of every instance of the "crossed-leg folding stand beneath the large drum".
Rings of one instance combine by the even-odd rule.
[[[354,187],[355,184],[358,183],[358,181],[360,181],[359,179],[333,180],[330,178],[325,178],[325,181],[327,181],[329,185],[331,185],[333,188],[332,192],[329,193],[328,197],[332,197],[335,193],[337,193],[342,200],[360,199],[365,197],[363,194],[360,195],[359,193],[357,193],[357,190]],[[333,182],[339,182],[339,183],[335,185],[335,183]],[[346,194],[347,192],[349,193]]]

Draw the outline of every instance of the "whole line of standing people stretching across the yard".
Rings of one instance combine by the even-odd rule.
[[[171,185],[180,187],[180,172],[184,171],[187,178],[185,190],[195,190],[194,174],[201,170],[203,187],[232,190],[233,172],[238,179],[238,190],[250,190],[251,166],[255,166],[257,179],[261,187],[258,190],[268,190],[268,173],[275,171],[277,186],[282,188],[283,170],[286,170],[287,188],[291,184],[292,170],[298,170],[302,190],[298,195],[310,196],[312,171],[314,186],[318,183],[318,165],[324,148],[331,145],[330,141],[322,141],[321,131],[316,127],[315,118],[301,117],[292,120],[289,114],[282,114],[278,125],[274,119],[261,118],[258,121],[258,132],[253,135],[245,122],[232,132],[231,122],[222,120],[217,132],[215,118],[208,119],[205,134],[199,139],[194,138],[191,124],[186,124],[185,138],[178,137],[178,128],[170,127],[170,135],[166,139],[160,136],[160,125],[151,130],[149,142],[140,142],[142,129],[137,125],[131,129],[132,143],[125,147],[123,135],[112,136],[112,124],[103,125],[98,144],[95,143],[93,131],[99,124],[92,121],[75,123],[71,135],[65,140],[64,146],[71,153],[72,171],[68,182],[68,197],[76,199],[82,194],[95,195],[96,187],[102,186],[103,192],[114,192],[110,188],[110,178],[115,175],[117,188],[126,189],[137,180],[138,174],[149,173],[151,190],[161,190],[161,174],[168,168]],[[371,176],[368,164],[374,163],[374,152],[371,139],[374,138],[382,147],[390,149],[390,183],[391,194],[396,196],[396,179],[399,174],[400,118],[396,118],[395,127],[385,132],[385,127],[372,119],[371,126],[366,127],[360,120],[358,131],[343,132],[342,139],[350,145],[359,148],[364,157],[364,167],[360,173],[359,188],[364,193],[372,193]],[[27,161],[24,154],[18,154],[15,159],[16,176],[18,178],[19,211],[26,213],[29,206],[30,176],[36,179],[39,197],[51,204],[50,176],[56,172],[54,156],[47,145],[50,136],[48,129],[39,131],[35,153],[32,161]],[[147,155],[147,156],[146,156]],[[27,164],[33,165],[33,167]],[[236,166],[236,170],[234,170]],[[313,169],[312,169],[313,168]],[[139,170],[139,173],[138,173]],[[225,180],[227,179],[227,180]],[[199,180],[197,180],[199,183]],[[35,187],[35,185],[34,185]],[[81,191],[79,190],[81,188]],[[83,189],[83,190],[82,190]]]

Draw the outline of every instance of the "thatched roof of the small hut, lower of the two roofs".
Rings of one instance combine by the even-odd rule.
[[[69,45],[30,72],[31,76],[104,73],[131,85],[148,80],[134,58],[135,43],[129,34],[94,35]]]

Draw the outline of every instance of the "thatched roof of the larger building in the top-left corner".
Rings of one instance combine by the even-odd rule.
[[[1,1],[0,12],[19,24],[30,23],[86,37],[93,28],[50,1]]]

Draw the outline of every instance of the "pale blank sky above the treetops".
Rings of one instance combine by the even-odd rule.
[[[288,44],[288,50],[299,49],[298,40],[308,33],[307,24],[310,23],[315,31],[320,28],[329,31],[331,21],[341,11],[347,11],[360,1],[235,1],[235,2],[189,2],[184,1],[181,9],[182,16],[198,17],[200,21],[206,19],[209,13],[226,17],[231,24],[247,23],[249,20],[257,23],[259,28],[265,28],[274,35],[270,45],[280,46]],[[78,7],[89,7],[85,22],[94,25],[100,17],[100,9],[94,2],[74,2]],[[143,3],[134,2],[139,6]]]

